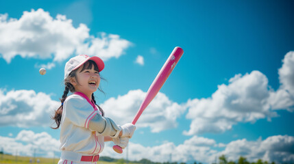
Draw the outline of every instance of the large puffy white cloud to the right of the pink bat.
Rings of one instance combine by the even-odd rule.
[[[267,103],[268,80],[264,74],[258,71],[243,77],[237,74],[229,82],[219,85],[211,98],[188,100],[186,118],[192,122],[185,135],[221,133],[238,122],[255,122],[277,115]]]

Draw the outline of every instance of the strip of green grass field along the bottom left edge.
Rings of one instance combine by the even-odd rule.
[[[53,163],[58,163],[59,159],[47,159],[47,158],[42,158],[42,157],[36,157],[35,162],[33,157],[29,156],[12,156],[8,154],[0,154],[0,163],[1,164],[11,164],[11,163],[17,163],[17,164],[32,164],[29,163],[29,159],[32,159],[32,163],[37,163],[37,159],[40,160],[40,164],[53,164]],[[114,164],[111,162],[106,162],[106,161],[99,161],[99,164]]]

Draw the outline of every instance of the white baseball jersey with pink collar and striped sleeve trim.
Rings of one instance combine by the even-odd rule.
[[[60,150],[81,154],[99,154],[104,148],[104,137],[90,131],[88,125],[95,115],[101,114],[96,105],[81,92],[75,92],[64,101]]]

